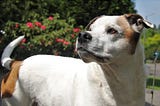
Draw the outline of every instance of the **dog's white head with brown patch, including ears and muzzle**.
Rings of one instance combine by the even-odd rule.
[[[154,25],[137,14],[100,16],[80,32],[76,48],[85,62],[108,62],[134,55],[143,28]]]

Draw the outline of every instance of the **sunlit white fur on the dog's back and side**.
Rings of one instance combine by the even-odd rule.
[[[12,105],[4,106],[29,106],[34,100],[39,106],[116,105],[100,66],[85,64],[79,59],[50,55],[30,57],[21,66],[16,87],[13,97],[3,100]],[[21,89],[23,95],[19,94]]]

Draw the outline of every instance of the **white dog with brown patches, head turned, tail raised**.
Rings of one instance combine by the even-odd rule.
[[[2,54],[10,72],[1,82],[2,106],[144,106],[143,28],[153,24],[138,14],[99,16],[80,32],[81,59],[36,55],[10,58],[24,36]]]

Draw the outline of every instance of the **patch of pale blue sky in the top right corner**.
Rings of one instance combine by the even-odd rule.
[[[149,22],[160,25],[160,0],[132,0],[137,13]]]

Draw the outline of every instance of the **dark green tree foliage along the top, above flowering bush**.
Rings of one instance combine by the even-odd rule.
[[[27,22],[53,13],[75,18],[77,25],[87,25],[99,15],[136,13],[131,0],[1,0],[0,9],[1,28],[8,20]]]

